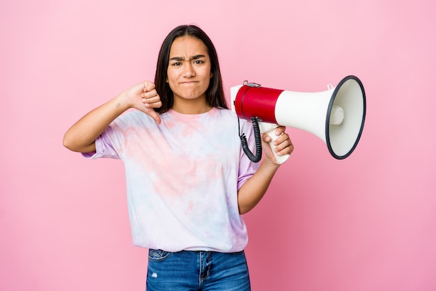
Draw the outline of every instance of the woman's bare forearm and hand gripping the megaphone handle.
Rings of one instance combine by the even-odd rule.
[[[279,156],[287,155],[293,152],[294,146],[289,139],[288,134],[285,133],[286,127],[277,127],[275,134],[279,136],[276,143],[276,151]],[[239,213],[244,214],[252,210],[262,199],[263,195],[267,191],[274,174],[279,169],[279,163],[277,163],[269,142],[270,136],[263,134],[263,152],[265,152],[265,158],[262,164],[258,168],[258,171],[254,173],[247,181],[242,184],[238,191],[238,207]]]

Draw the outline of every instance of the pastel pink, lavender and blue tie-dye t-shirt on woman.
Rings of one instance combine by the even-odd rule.
[[[133,244],[165,251],[242,251],[247,228],[238,189],[258,164],[242,151],[238,118],[213,108],[187,115],[172,109],[158,125],[141,111],[114,120],[88,158],[122,159]],[[254,148],[251,123],[240,130]]]

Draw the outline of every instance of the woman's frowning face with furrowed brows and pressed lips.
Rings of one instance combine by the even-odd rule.
[[[176,104],[205,101],[212,72],[208,49],[201,40],[180,36],[173,41],[169,52],[168,82]]]

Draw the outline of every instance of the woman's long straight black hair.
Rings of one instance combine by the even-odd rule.
[[[173,91],[166,82],[168,77],[167,70],[169,65],[169,52],[173,41],[180,36],[192,36],[201,40],[206,48],[210,57],[210,71],[212,78],[208,90],[206,91],[206,102],[212,107],[222,107],[228,109],[226,97],[224,96],[223,83],[221,79],[221,72],[219,70],[218,55],[215,46],[210,40],[209,36],[195,25],[180,25],[173,29],[168,36],[166,36],[162,47],[159,51],[157,58],[155,86],[156,91],[160,96],[162,107],[155,108],[157,113],[164,113],[171,109],[174,104]]]

